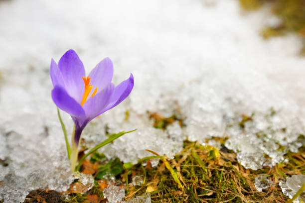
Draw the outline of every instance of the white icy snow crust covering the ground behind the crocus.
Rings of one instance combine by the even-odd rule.
[[[135,163],[150,155],[144,149],[172,157],[186,137],[205,144],[227,136],[247,168],[282,161],[280,145],[302,145],[305,60],[296,37],[259,36],[274,19],[244,13],[235,0],[0,1],[0,199],[21,202],[32,189],[64,191],[71,182],[49,77],[51,57],[71,48],[87,73],[108,56],[115,84],[134,74],[128,100],[83,133],[93,146],[106,125],[110,133],[137,128],[101,149],[109,158]],[[185,127],[155,129],[148,112],[176,114]],[[242,114],[252,113],[241,129]]]

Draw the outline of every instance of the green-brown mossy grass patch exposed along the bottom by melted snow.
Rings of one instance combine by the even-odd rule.
[[[303,137],[300,135],[299,138]],[[106,185],[101,184],[99,174],[103,171],[112,173],[118,167],[120,170],[115,170],[113,174],[116,175],[117,183],[125,183],[120,184],[126,192],[125,200],[143,196],[149,191],[152,203],[286,203],[288,197],[283,195],[278,183],[284,177],[305,174],[304,152],[304,148],[300,148],[298,153],[287,152],[285,159],[288,162],[256,171],[241,166],[236,154],[225,147],[218,151],[212,146],[202,146],[188,140],[184,141],[181,152],[172,159],[160,158],[158,166],[154,168],[148,160],[146,166],[139,163],[124,169],[119,159],[106,162],[103,156],[96,154],[93,155],[94,162],[100,166],[99,171],[93,174],[95,186],[88,194],[103,198],[103,190],[108,182],[105,182]],[[269,190],[261,193],[254,186],[255,177],[260,174],[266,174],[274,182]],[[134,176],[144,177],[143,184],[133,186],[131,182]],[[87,200],[86,194],[69,196],[71,201],[66,203]]]

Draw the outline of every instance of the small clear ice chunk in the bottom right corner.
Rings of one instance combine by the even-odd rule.
[[[279,183],[282,188],[284,195],[288,196],[290,199],[296,195],[302,185],[305,183],[305,175],[293,175],[292,177],[287,177]],[[305,191],[294,201],[294,203],[301,203],[302,200],[305,202]]]

